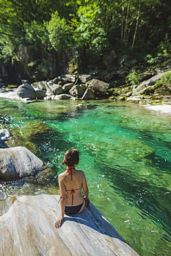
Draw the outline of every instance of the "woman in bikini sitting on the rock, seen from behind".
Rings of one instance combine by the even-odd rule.
[[[65,214],[77,214],[82,212],[90,204],[88,198],[88,185],[86,176],[81,170],[76,170],[75,165],[79,163],[79,152],[77,149],[69,149],[62,161],[66,165],[66,172],[59,174],[60,189],[60,211],[61,214],[54,223],[55,228],[61,227],[61,222]],[[81,194],[81,189],[85,196]]]

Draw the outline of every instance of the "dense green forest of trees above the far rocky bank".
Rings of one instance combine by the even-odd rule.
[[[170,0],[0,3],[0,66],[11,80],[90,73],[125,59],[128,73],[139,73],[170,60]]]

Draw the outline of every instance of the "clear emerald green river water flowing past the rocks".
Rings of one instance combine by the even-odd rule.
[[[1,100],[0,117],[8,129],[32,120],[53,128],[32,143],[56,176],[63,154],[77,147],[92,203],[139,255],[170,255],[171,116],[138,104]],[[28,186],[1,182],[1,200],[28,194]],[[53,186],[31,185],[29,194],[52,193]]]

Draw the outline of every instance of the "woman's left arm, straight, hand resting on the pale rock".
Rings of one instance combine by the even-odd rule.
[[[60,228],[61,222],[64,218],[65,206],[66,206],[66,186],[63,184],[63,177],[62,174],[58,176],[59,180],[59,189],[60,189],[60,216],[57,221],[54,223],[54,228]]]

